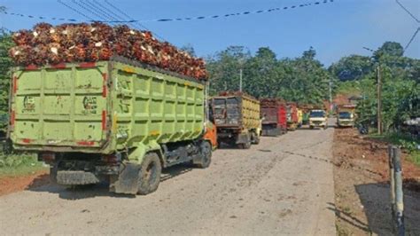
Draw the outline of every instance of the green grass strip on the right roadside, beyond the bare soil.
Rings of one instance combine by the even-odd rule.
[[[420,142],[418,139],[398,132],[385,133],[384,135],[369,134],[369,138],[401,146],[408,151],[408,160],[420,167],[420,150],[417,149]]]

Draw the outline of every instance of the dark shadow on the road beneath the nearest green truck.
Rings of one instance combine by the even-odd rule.
[[[181,176],[190,172],[192,169],[194,169],[192,165],[176,165],[163,169],[160,181],[164,182],[171,178]],[[107,181],[97,185],[64,186],[51,182],[48,174],[36,177],[27,186],[27,190],[32,192],[55,193],[58,194],[59,198],[66,200],[82,200],[95,197],[136,198],[134,194],[110,193],[109,183]]]

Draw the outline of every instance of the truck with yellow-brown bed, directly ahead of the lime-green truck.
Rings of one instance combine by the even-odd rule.
[[[260,101],[242,92],[221,92],[211,99],[217,143],[244,149],[260,143]]]

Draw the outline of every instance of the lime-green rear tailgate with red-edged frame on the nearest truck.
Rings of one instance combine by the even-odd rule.
[[[12,75],[10,137],[18,149],[104,146],[108,63],[19,68]]]

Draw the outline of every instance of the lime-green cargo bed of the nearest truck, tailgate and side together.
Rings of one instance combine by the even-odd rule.
[[[10,137],[18,150],[155,149],[204,130],[204,85],[143,67],[19,67],[12,80]]]

